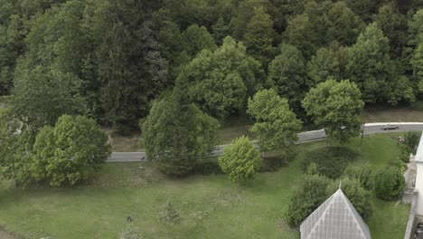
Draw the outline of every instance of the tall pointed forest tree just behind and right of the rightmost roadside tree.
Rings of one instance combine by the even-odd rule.
[[[362,91],[365,102],[390,98],[389,81],[393,67],[389,39],[377,24],[369,24],[348,51],[346,77]]]

